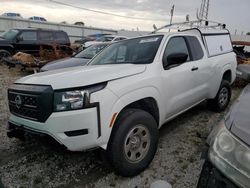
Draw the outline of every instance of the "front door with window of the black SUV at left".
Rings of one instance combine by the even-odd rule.
[[[25,52],[28,54],[37,54],[39,45],[37,43],[36,31],[21,31],[16,38],[15,52]]]

